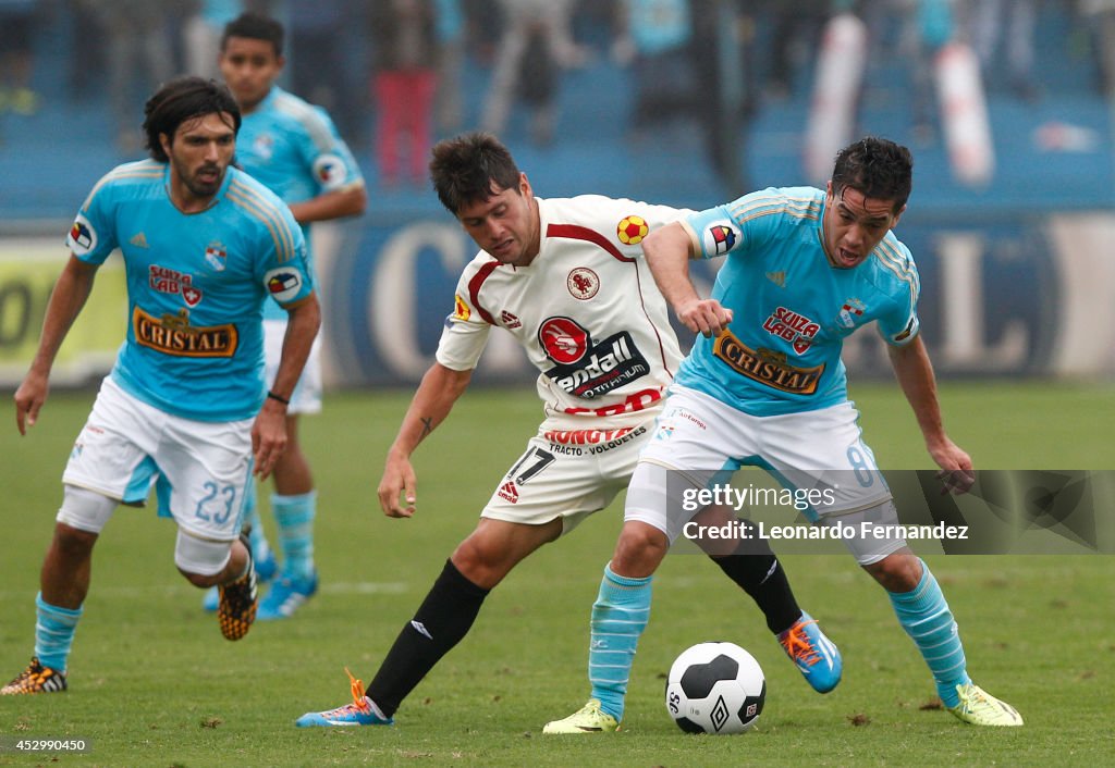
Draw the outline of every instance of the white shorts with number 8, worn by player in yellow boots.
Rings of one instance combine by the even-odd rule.
[[[685,387],[666,399],[641,461],[669,473],[669,488],[628,494],[624,519],[637,519],[671,534],[680,519],[678,496],[686,487],[726,484],[736,469],[766,469],[811,504],[798,512],[816,522],[826,515],[870,509],[891,498],[890,488],[863,443],[851,402],[784,416],[750,416]],[[677,486],[676,488],[673,486]],[[678,519],[673,519],[678,518]]]

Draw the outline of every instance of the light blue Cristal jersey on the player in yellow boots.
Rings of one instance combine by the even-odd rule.
[[[712,298],[734,313],[717,339],[698,337],[676,381],[753,416],[847,400],[841,348],[879,321],[891,344],[918,333],[920,283],[893,233],[851,270],[834,269],[821,231],[825,193],[768,188],[683,220],[704,257],[727,254]]]

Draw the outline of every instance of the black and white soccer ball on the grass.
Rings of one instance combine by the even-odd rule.
[[[666,709],[688,733],[743,733],[766,700],[755,658],[735,643],[699,643],[683,651],[666,679]]]

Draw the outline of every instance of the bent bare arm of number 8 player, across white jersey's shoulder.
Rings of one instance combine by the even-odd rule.
[[[716,299],[701,299],[689,279],[694,246],[681,224],[673,222],[651,232],[642,241],[642,253],[658,290],[686,328],[706,337],[719,336],[727,328],[731,310]]]

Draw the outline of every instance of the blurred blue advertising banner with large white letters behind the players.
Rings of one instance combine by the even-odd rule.
[[[922,334],[939,376],[1111,375],[1115,370],[1115,268],[1109,214],[1046,217],[903,216],[901,240],[922,280]],[[457,278],[476,249],[452,220],[424,212],[349,227],[319,251],[332,383],[414,383],[433,362]],[[707,294],[719,261],[695,262]],[[1085,311],[1080,311],[1079,304]],[[1074,309],[1075,308],[1075,309]],[[682,346],[691,337],[681,329]],[[845,343],[853,378],[891,376],[872,331]],[[536,376],[495,332],[477,381]]]

